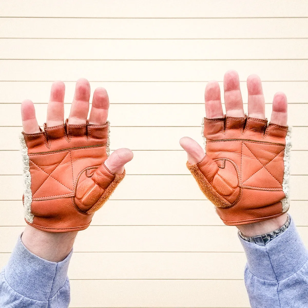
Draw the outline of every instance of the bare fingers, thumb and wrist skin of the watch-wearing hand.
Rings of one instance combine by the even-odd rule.
[[[262,91],[261,80],[257,75],[250,75],[247,78],[247,89],[248,117],[264,120],[265,99]],[[240,91],[240,82],[236,71],[228,71],[225,74],[224,92],[227,118],[244,118],[245,113],[243,109],[243,100]],[[223,118],[225,116],[222,110],[220,87],[217,81],[210,81],[206,85],[205,112],[207,119]],[[270,123],[277,124],[280,126],[286,126],[287,124],[287,99],[286,95],[282,92],[278,92],[274,95],[273,110]],[[189,164],[197,164],[205,157],[205,152],[203,151],[201,146],[195,140],[189,137],[183,137],[180,140],[180,145],[187,152]],[[258,225],[262,226],[261,229],[264,231],[265,229],[268,230],[273,228],[273,226],[276,226],[277,224],[280,225],[278,226],[279,228],[285,223],[285,221],[286,214],[283,214],[282,216],[270,219],[269,221],[261,221],[252,224],[241,225],[238,226],[238,228],[241,229],[241,231],[243,230],[242,232],[246,236],[251,236],[248,234],[249,230],[253,230],[252,232],[259,232],[260,230],[257,229]],[[251,227],[252,225],[253,227]]]

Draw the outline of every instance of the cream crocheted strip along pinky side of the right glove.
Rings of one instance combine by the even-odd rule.
[[[286,148],[285,154],[283,156],[283,162],[285,166],[283,181],[282,181],[282,190],[285,193],[286,197],[282,199],[282,212],[286,213],[290,207],[290,187],[289,187],[289,179],[290,179],[290,155],[291,155],[291,132],[292,128],[288,128],[288,132],[286,135]]]

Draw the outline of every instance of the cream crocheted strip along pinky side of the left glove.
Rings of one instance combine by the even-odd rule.
[[[29,166],[29,156],[28,148],[26,145],[25,137],[21,134],[19,136],[21,144],[21,156],[22,156],[22,171],[23,171],[23,206],[25,211],[26,221],[33,223],[34,215],[31,214],[31,202],[32,202],[32,191],[31,191],[31,175],[30,175],[30,166]]]

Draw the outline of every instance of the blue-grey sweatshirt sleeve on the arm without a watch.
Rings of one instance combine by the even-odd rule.
[[[17,245],[0,273],[0,307],[67,308],[70,284],[67,269],[71,253],[61,262],[37,257],[22,244]]]

